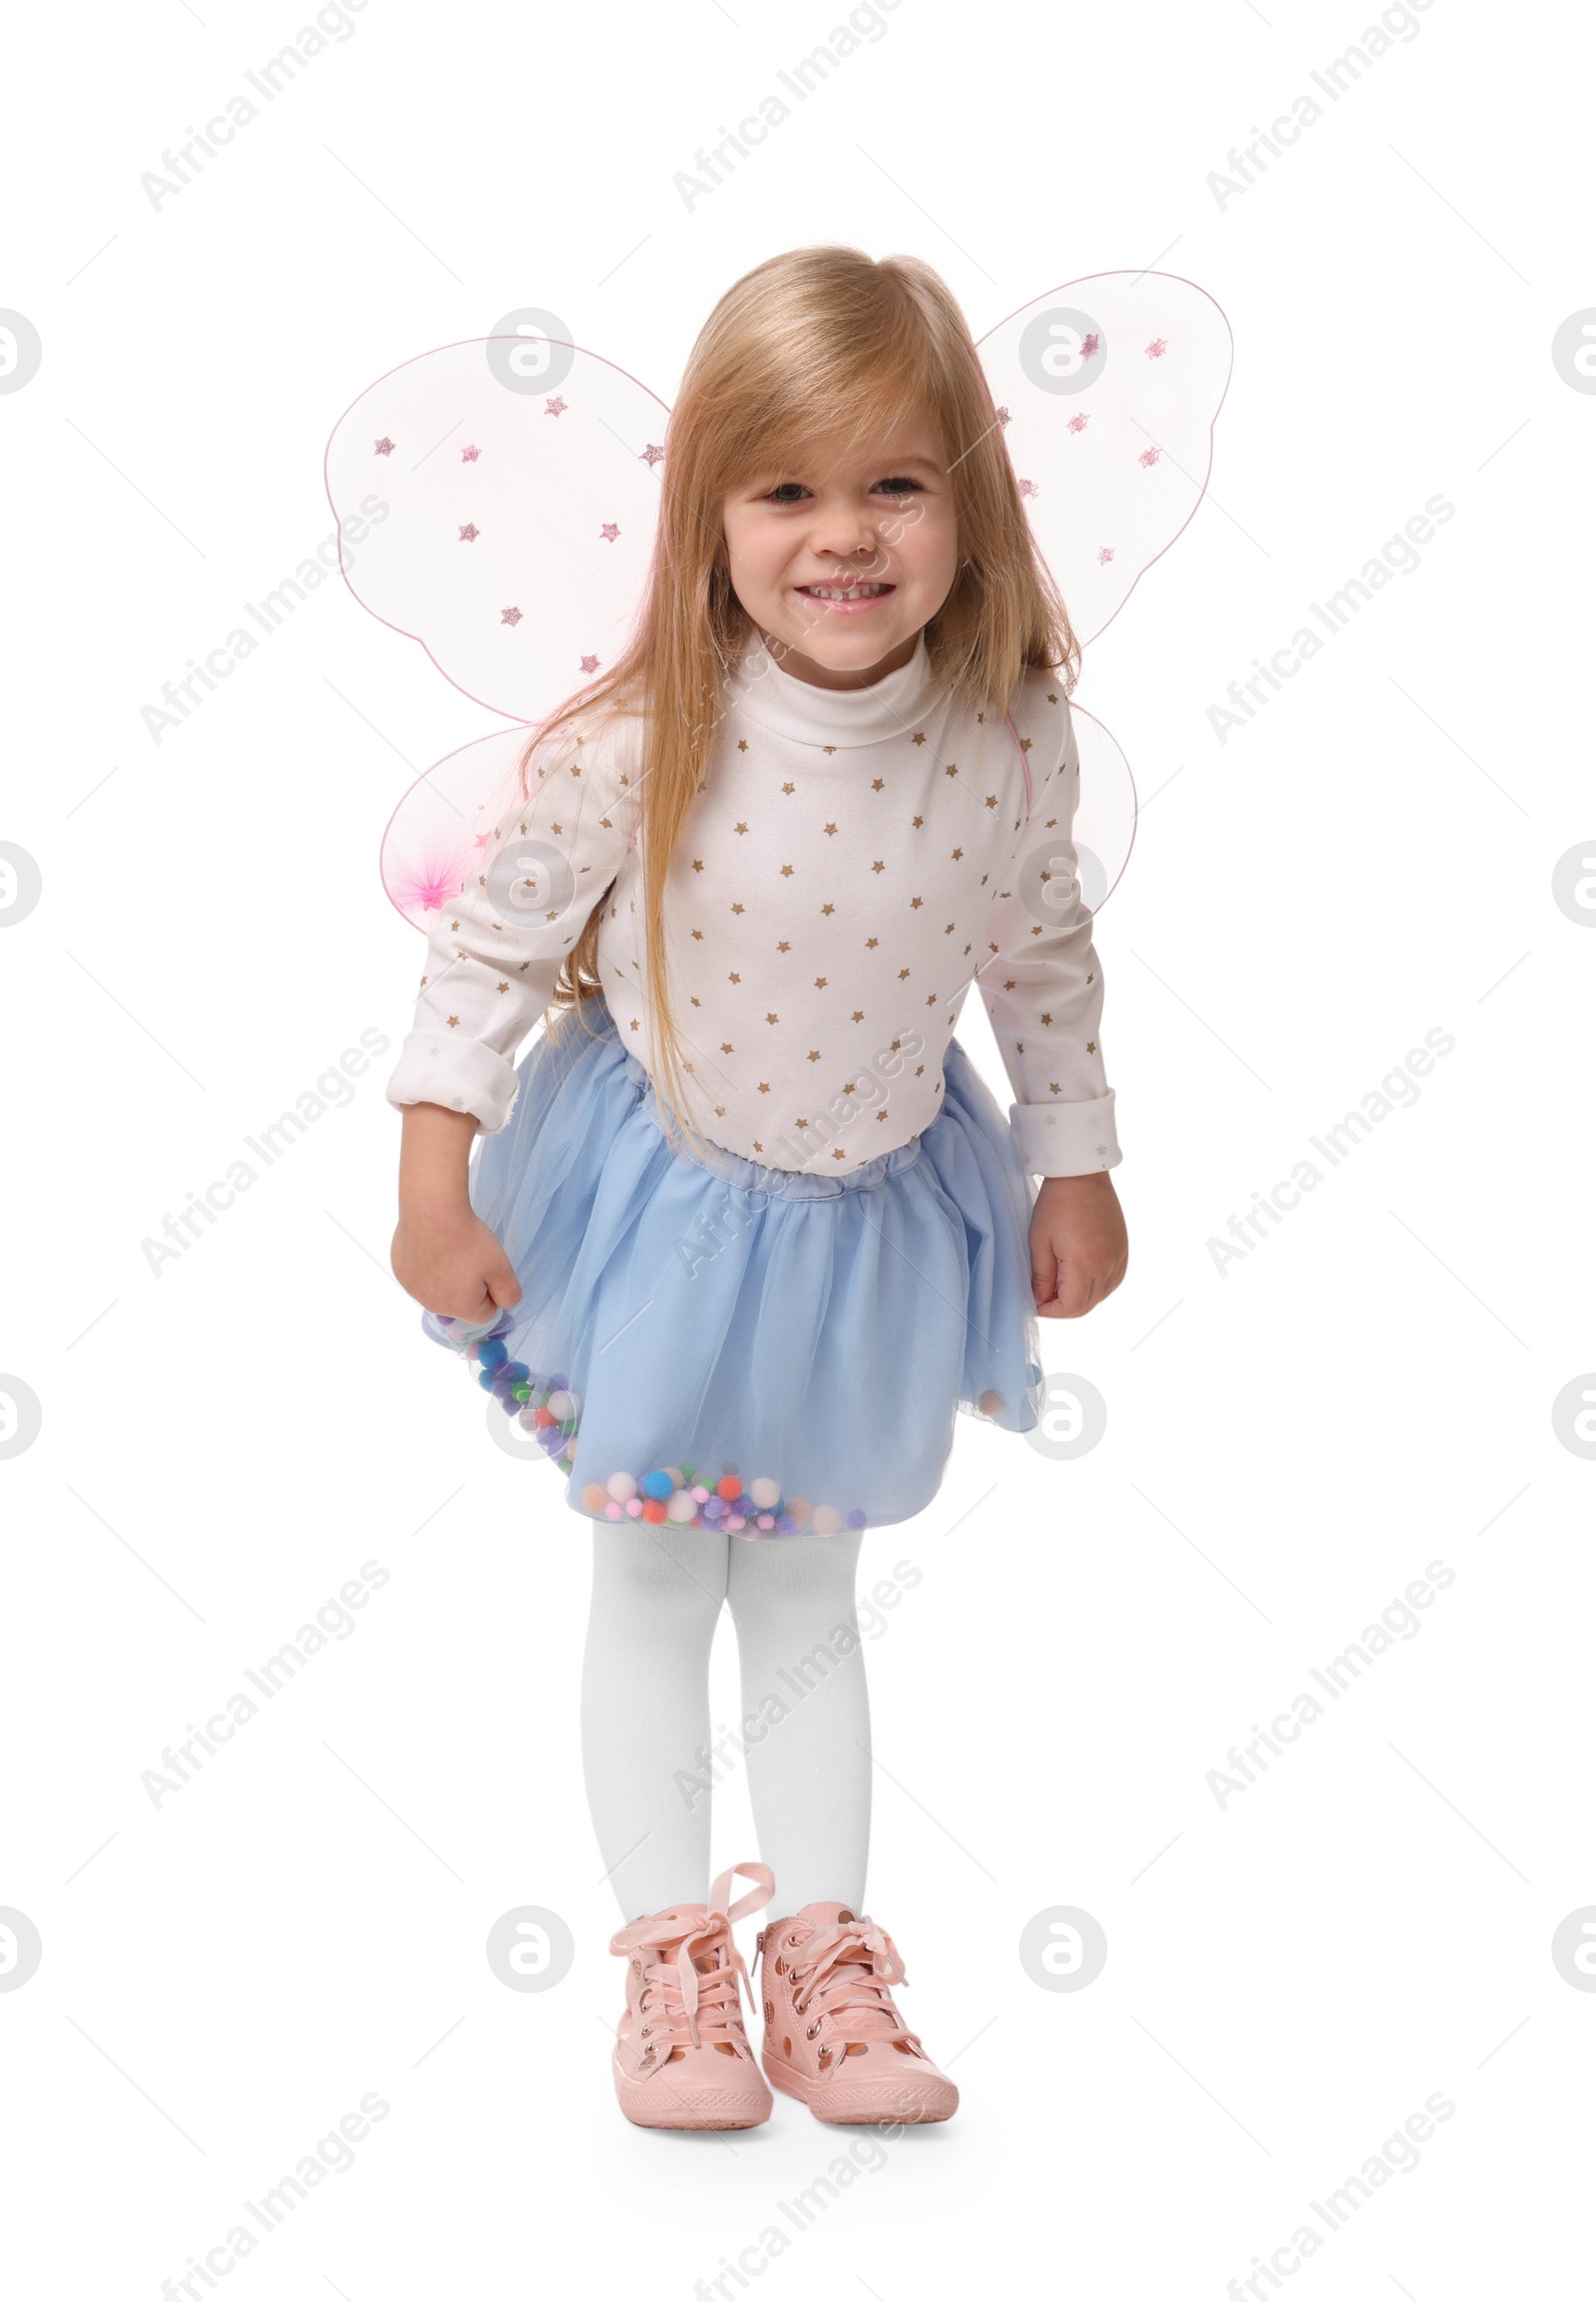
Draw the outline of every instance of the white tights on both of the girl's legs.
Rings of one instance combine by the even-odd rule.
[[[629,1519],[599,1522],[592,1545],[583,1770],[622,1918],[709,1892],[709,1644],[721,1604],[737,1625],[746,1754],[723,1745],[716,1773],[748,1768],[760,1860],[776,1874],[769,1915],[808,1901],[861,1911],[871,1703],[854,1618],[859,1535],[748,1542]]]

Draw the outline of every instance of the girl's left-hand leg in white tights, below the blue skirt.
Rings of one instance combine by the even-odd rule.
[[[622,1918],[709,1895],[709,1644],[732,1538],[626,1519],[592,1531],[583,1660],[587,1807]]]

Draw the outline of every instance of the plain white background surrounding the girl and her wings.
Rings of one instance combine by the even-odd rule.
[[[368,0],[159,209],[140,175],[302,18],[12,30],[0,304],[44,341],[0,398],[0,838],[44,875],[0,935],[0,1370],[44,1409],[0,1462],[30,2297],[154,2302],[368,2093],[355,2164],[228,2293],[689,2297],[843,2145],[781,2097],[721,2139],[615,2111],[583,1533],[387,1275],[385,1064],[159,1275],[140,1250],[362,1029],[398,1041],[421,946],[375,838],[493,725],[336,582],[159,746],[140,707],[329,532],[325,437],[385,368],[532,304],[668,398],[721,290],[815,239],[926,256],[976,331],[1163,262],[1237,368],[1211,497],[1080,686],[1145,803],[1099,923],[1133,1250],[1043,1344],[1108,1432],[1055,1464],[963,1427],[935,1508],[866,1538],[924,1572],[871,1653],[868,1901],[965,2104],[723,2293],[1221,2297],[1437,2093],[1421,2164],[1285,2288],[1589,2277],[1596,1996],[1550,1952],[1596,1901],[1596,1464],[1552,1427],[1596,1365],[1596,935],[1552,900],[1596,831],[1596,398],[1550,357],[1596,304],[1589,25],[1432,0],[1221,207],[1209,173],[1370,14],[900,0],[689,212],[693,147],[841,14]],[[1225,684],[1435,493],[1421,569],[1221,746]],[[1207,1241],[1437,1027],[1421,1098],[1221,1275]],[[368,1558],[352,1637],[154,1807],[164,1745]],[[1419,1634],[1221,1807],[1228,1747],[1430,1561]],[[751,1853],[732,1784],[716,1855]],[[550,1991],[486,1964],[518,1904],[573,1931]],[[1052,1906],[1108,1936],[1082,1991],[1020,1964]]]

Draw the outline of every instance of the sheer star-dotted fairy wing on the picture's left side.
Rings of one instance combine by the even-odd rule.
[[[525,723],[620,656],[663,451],[652,391],[532,331],[408,359],[339,419],[327,495],[345,582],[444,679],[520,723],[449,753],[394,810],[382,884],[417,928],[509,806]]]

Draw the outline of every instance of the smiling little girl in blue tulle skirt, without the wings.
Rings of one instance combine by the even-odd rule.
[[[944,283],[778,256],[693,345],[626,654],[539,727],[428,944],[394,1271],[592,1522],[583,1763],[636,2125],[758,2125],[769,2086],[836,2122],[958,2104],[861,1911],[845,1625],[864,1531],[930,1503],[956,1409],[1034,1430],[1036,1314],[1126,1268],[1076,663]],[[951,1036],[972,983],[1009,1123]],[[723,1604],[762,1862],[712,1888]],[[772,1901],[755,2060],[732,1922]]]

